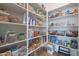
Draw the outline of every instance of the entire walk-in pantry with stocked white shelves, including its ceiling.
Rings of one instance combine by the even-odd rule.
[[[79,56],[79,4],[55,5],[0,3],[0,56]]]

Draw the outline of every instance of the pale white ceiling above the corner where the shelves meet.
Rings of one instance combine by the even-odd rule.
[[[51,11],[53,9],[59,8],[69,3],[44,3],[45,9]]]

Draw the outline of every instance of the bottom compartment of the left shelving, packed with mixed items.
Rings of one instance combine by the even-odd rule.
[[[0,48],[0,56],[25,56],[27,55],[26,42]]]

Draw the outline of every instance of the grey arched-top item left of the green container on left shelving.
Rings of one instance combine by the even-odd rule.
[[[12,43],[12,42],[16,42],[17,39],[17,34],[14,31],[8,31],[5,34],[5,41],[6,43]]]

